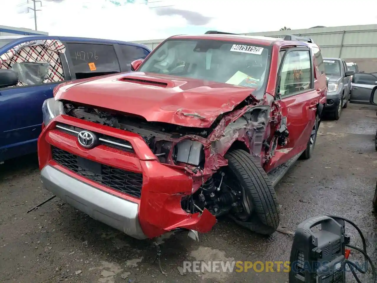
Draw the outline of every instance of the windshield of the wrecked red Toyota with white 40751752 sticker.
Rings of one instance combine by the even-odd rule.
[[[167,40],[138,71],[261,89],[267,83],[269,55],[267,46],[219,40]]]

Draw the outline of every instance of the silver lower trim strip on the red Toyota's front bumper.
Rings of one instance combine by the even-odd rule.
[[[92,187],[46,165],[41,171],[44,187],[64,202],[125,234],[145,239],[138,219],[138,204]]]

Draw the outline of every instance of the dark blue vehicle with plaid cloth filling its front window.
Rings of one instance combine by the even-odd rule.
[[[149,53],[144,45],[113,40],[0,36],[1,76],[14,80],[0,85],[0,163],[37,151],[41,107],[59,83],[130,71],[133,60]]]

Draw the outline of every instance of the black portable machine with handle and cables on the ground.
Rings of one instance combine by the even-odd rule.
[[[345,234],[345,222],[359,232],[363,249],[349,245],[350,237]],[[320,230],[314,232],[312,228],[319,224]],[[350,250],[346,247],[364,255],[365,269],[348,260]],[[300,223],[294,234],[290,262],[289,283],[345,283],[346,266],[356,281],[361,283],[355,269],[365,274],[368,262],[372,268],[372,282],[377,282],[374,265],[366,254],[363,233],[352,221],[339,216],[313,217]]]

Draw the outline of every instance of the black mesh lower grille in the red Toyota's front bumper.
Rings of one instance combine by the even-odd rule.
[[[101,185],[136,198],[141,197],[143,174],[125,171],[78,157],[52,146],[52,159],[61,166]]]

